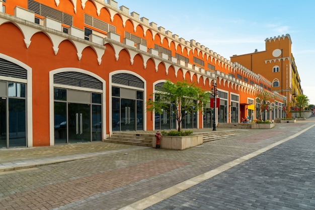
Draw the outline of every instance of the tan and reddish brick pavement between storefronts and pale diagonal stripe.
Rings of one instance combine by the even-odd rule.
[[[295,124],[276,124],[271,130],[241,130],[239,136],[184,151],[102,142],[0,149],[0,209],[128,209],[132,203],[313,125],[310,118]],[[225,197],[222,199],[224,202]]]

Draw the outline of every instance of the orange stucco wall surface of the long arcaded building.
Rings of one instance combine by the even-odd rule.
[[[14,8],[16,6],[27,9],[27,1],[7,1],[6,11],[8,14],[14,15]],[[225,74],[237,73],[242,74],[244,77],[254,80],[254,78],[245,71],[241,69],[232,69],[228,67],[227,64],[220,62],[218,59],[206,54],[202,54],[201,51],[197,49],[192,50],[190,46],[185,46],[185,44],[178,44],[175,41],[168,40],[163,38],[159,33],[153,33],[152,30],[147,29],[146,31],[140,25],[136,27],[133,25],[133,22],[127,20],[123,23],[123,20],[119,14],[113,16],[113,21],[111,22],[111,14],[108,9],[102,8],[98,16],[96,6],[92,1],[88,1],[85,4],[84,9],[81,6],[81,1],[76,1],[76,13],[74,13],[73,5],[71,1],[60,0],[58,7],[54,1],[44,1],[37,0],[37,2],[47,5],[51,8],[60,10],[64,13],[67,13],[73,16],[73,26],[79,29],[84,29],[84,13],[89,14],[95,18],[101,19],[104,22],[112,24],[116,27],[116,33],[120,35],[120,41],[122,42],[124,38],[124,32],[127,31],[132,33],[142,39],[147,41],[147,48],[154,48],[154,44],[162,46],[172,51],[172,56],[175,56],[176,53],[189,58],[190,63],[193,63],[193,57],[197,57],[204,61],[205,66],[199,66],[207,70],[207,64],[212,64],[215,66],[215,70],[219,70]],[[125,26],[124,26],[125,24]],[[134,28],[136,31],[134,31]],[[49,145],[49,72],[63,67],[73,67],[88,70],[93,72],[105,81],[109,81],[109,73],[115,70],[129,70],[136,72],[138,75],[143,77],[146,81],[146,98],[150,98],[150,94],[153,91],[153,83],[161,79],[169,79],[171,81],[183,80],[196,83],[202,89],[210,91],[212,79],[207,77],[202,77],[192,73],[192,76],[189,72],[185,72],[183,68],[175,69],[174,66],[168,67],[163,62],[160,62],[156,67],[156,60],[149,58],[145,61],[146,67],[144,67],[144,60],[141,54],[137,54],[133,57],[133,63],[131,63],[130,54],[128,49],[122,49],[118,52],[118,60],[116,61],[115,49],[113,46],[108,43],[105,44],[105,51],[102,55],[101,64],[98,63],[98,56],[95,50],[92,47],[86,47],[82,51],[81,59],[77,56],[77,49],[71,40],[62,41],[58,46],[53,46],[53,42],[50,40],[50,37],[45,34],[45,32],[39,32],[34,34],[31,37],[31,43],[29,47],[26,47],[24,42],[24,36],[22,31],[14,25],[14,23],[5,23],[0,25],[0,31],[6,31],[3,33],[2,39],[0,40],[0,53],[11,56],[26,65],[32,68],[32,80],[33,80],[33,92],[32,92],[32,102],[33,102],[33,145],[34,146],[47,146]],[[145,35],[144,35],[145,34]],[[162,37],[162,42],[161,42]],[[154,38],[154,39],[153,39]],[[170,42],[170,43],[169,43]],[[272,43],[277,44],[277,43]],[[58,52],[55,55],[53,47],[58,48]],[[284,51],[290,52],[290,49],[284,49]],[[269,55],[264,55],[265,52],[259,53],[263,58],[267,58]],[[267,54],[267,52],[266,52]],[[247,57],[251,55],[245,55],[239,59],[244,58],[246,65],[248,64]],[[253,68],[263,69],[261,64],[263,61],[256,61],[255,56],[253,55]],[[243,64],[245,65],[245,64]],[[185,73],[184,73],[185,72]],[[185,76],[184,76],[185,75]],[[266,75],[266,77],[268,74]],[[268,77],[267,77],[268,78]],[[247,103],[248,98],[253,98],[253,92],[246,91],[243,87],[240,87],[238,84],[231,84],[223,79],[216,79],[217,88],[222,91],[227,91],[228,95],[230,92],[240,95],[240,103]],[[255,81],[258,82],[259,81]],[[107,83],[108,85],[108,83]],[[106,107],[109,107],[109,90],[108,86],[106,87]],[[228,102],[230,104],[230,102]],[[109,116],[109,110],[106,110],[106,116]],[[244,112],[244,111],[243,111]],[[201,114],[201,113],[200,113]],[[150,112],[145,112],[147,117],[146,128],[147,130],[153,129],[153,119]],[[245,114],[244,114],[245,115]],[[244,117],[244,116],[242,116]],[[108,117],[107,117],[108,118]],[[240,116],[241,118],[241,116]],[[109,122],[109,119],[106,119]],[[106,131],[109,132],[109,124],[107,123]],[[199,126],[202,126],[202,118],[199,119]]]

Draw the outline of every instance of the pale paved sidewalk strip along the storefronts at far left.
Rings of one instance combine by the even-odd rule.
[[[226,129],[218,128],[217,132],[223,130]],[[193,129],[193,131],[194,133],[206,133],[212,132],[212,128]],[[140,131],[140,133],[144,132],[155,133],[155,131]],[[0,172],[91,158],[102,154],[128,152],[148,148],[150,147],[93,142],[46,147],[0,149]]]

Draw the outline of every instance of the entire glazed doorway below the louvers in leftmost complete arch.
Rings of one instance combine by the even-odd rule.
[[[102,141],[102,94],[54,88],[54,143],[93,141]]]

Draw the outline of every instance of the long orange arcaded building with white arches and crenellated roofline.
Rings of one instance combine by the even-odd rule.
[[[205,104],[203,111],[185,115],[186,129],[209,128],[214,118],[254,119],[257,93],[271,88],[265,77],[124,6],[118,9],[114,1],[0,0],[0,6],[0,147],[176,129],[172,104],[162,115],[146,112],[146,101],[166,80],[186,79],[208,91],[217,83],[217,115]],[[268,94],[268,102],[279,104],[270,119],[278,118],[286,97]]]

